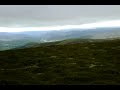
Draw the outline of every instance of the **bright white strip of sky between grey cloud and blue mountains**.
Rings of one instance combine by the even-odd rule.
[[[95,29],[100,27],[120,27],[120,20],[88,23],[82,25],[63,25],[63,26],[48,26],[48,27],[0,27],[0,32],[24,32],[24,31],[51,31],[51,30],[66,30],[66,29]]]

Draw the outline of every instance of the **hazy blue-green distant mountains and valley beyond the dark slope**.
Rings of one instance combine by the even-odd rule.
[[[65,39],[111,39],[120,37],[120,27],[95,29],[69,29],[51,31],[0,32],[0,50],[19,48],[34,43],[54,42]],[[35,44],[36,45],[36,44]]]

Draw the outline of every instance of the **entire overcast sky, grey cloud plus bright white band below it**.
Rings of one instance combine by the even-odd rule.
[[[0,5],[0,32],[120,26],[120,5]]]

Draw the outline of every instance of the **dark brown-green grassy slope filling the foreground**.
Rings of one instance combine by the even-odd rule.
[[[120,84],[120,40],[0,52],[0,84]]]

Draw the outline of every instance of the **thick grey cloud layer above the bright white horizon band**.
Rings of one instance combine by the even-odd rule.
[[[0,26],[49,26],[120,19],[120,5],[1,5]]]

